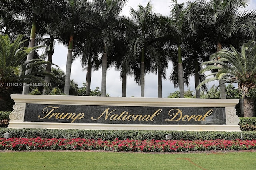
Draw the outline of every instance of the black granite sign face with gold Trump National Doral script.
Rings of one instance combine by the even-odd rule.
[[[26,104],[24,121],[151,125],[226,124],[224,107]]]

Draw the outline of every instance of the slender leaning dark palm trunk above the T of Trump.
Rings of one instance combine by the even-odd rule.
[[[49,51],[48,51],[48,58],[47,58],[47,61],[48,61],[48,62],[52,62],[52,55],[53,55],[53,53],[54,53],[54,50],[53,50],[53,42],[54,42],[54,38],[51,37],[51,38],[50,38],[50,48],[49,48]],[[46,72],[51,73],[51,69],[52,69],[52,64],[51,64],[51,63],[48,63],[48,64],[46,65]],[[45,81],[46,84],[50,83],[51,77],[48,76],[48,75],[46,75],[46,76],[44,77],[44,81]],[[47,89],[48,89],[48,87],[44,86],[44,91],[43,91],[43,94],[44,94],[44,95],[46,95]]]

